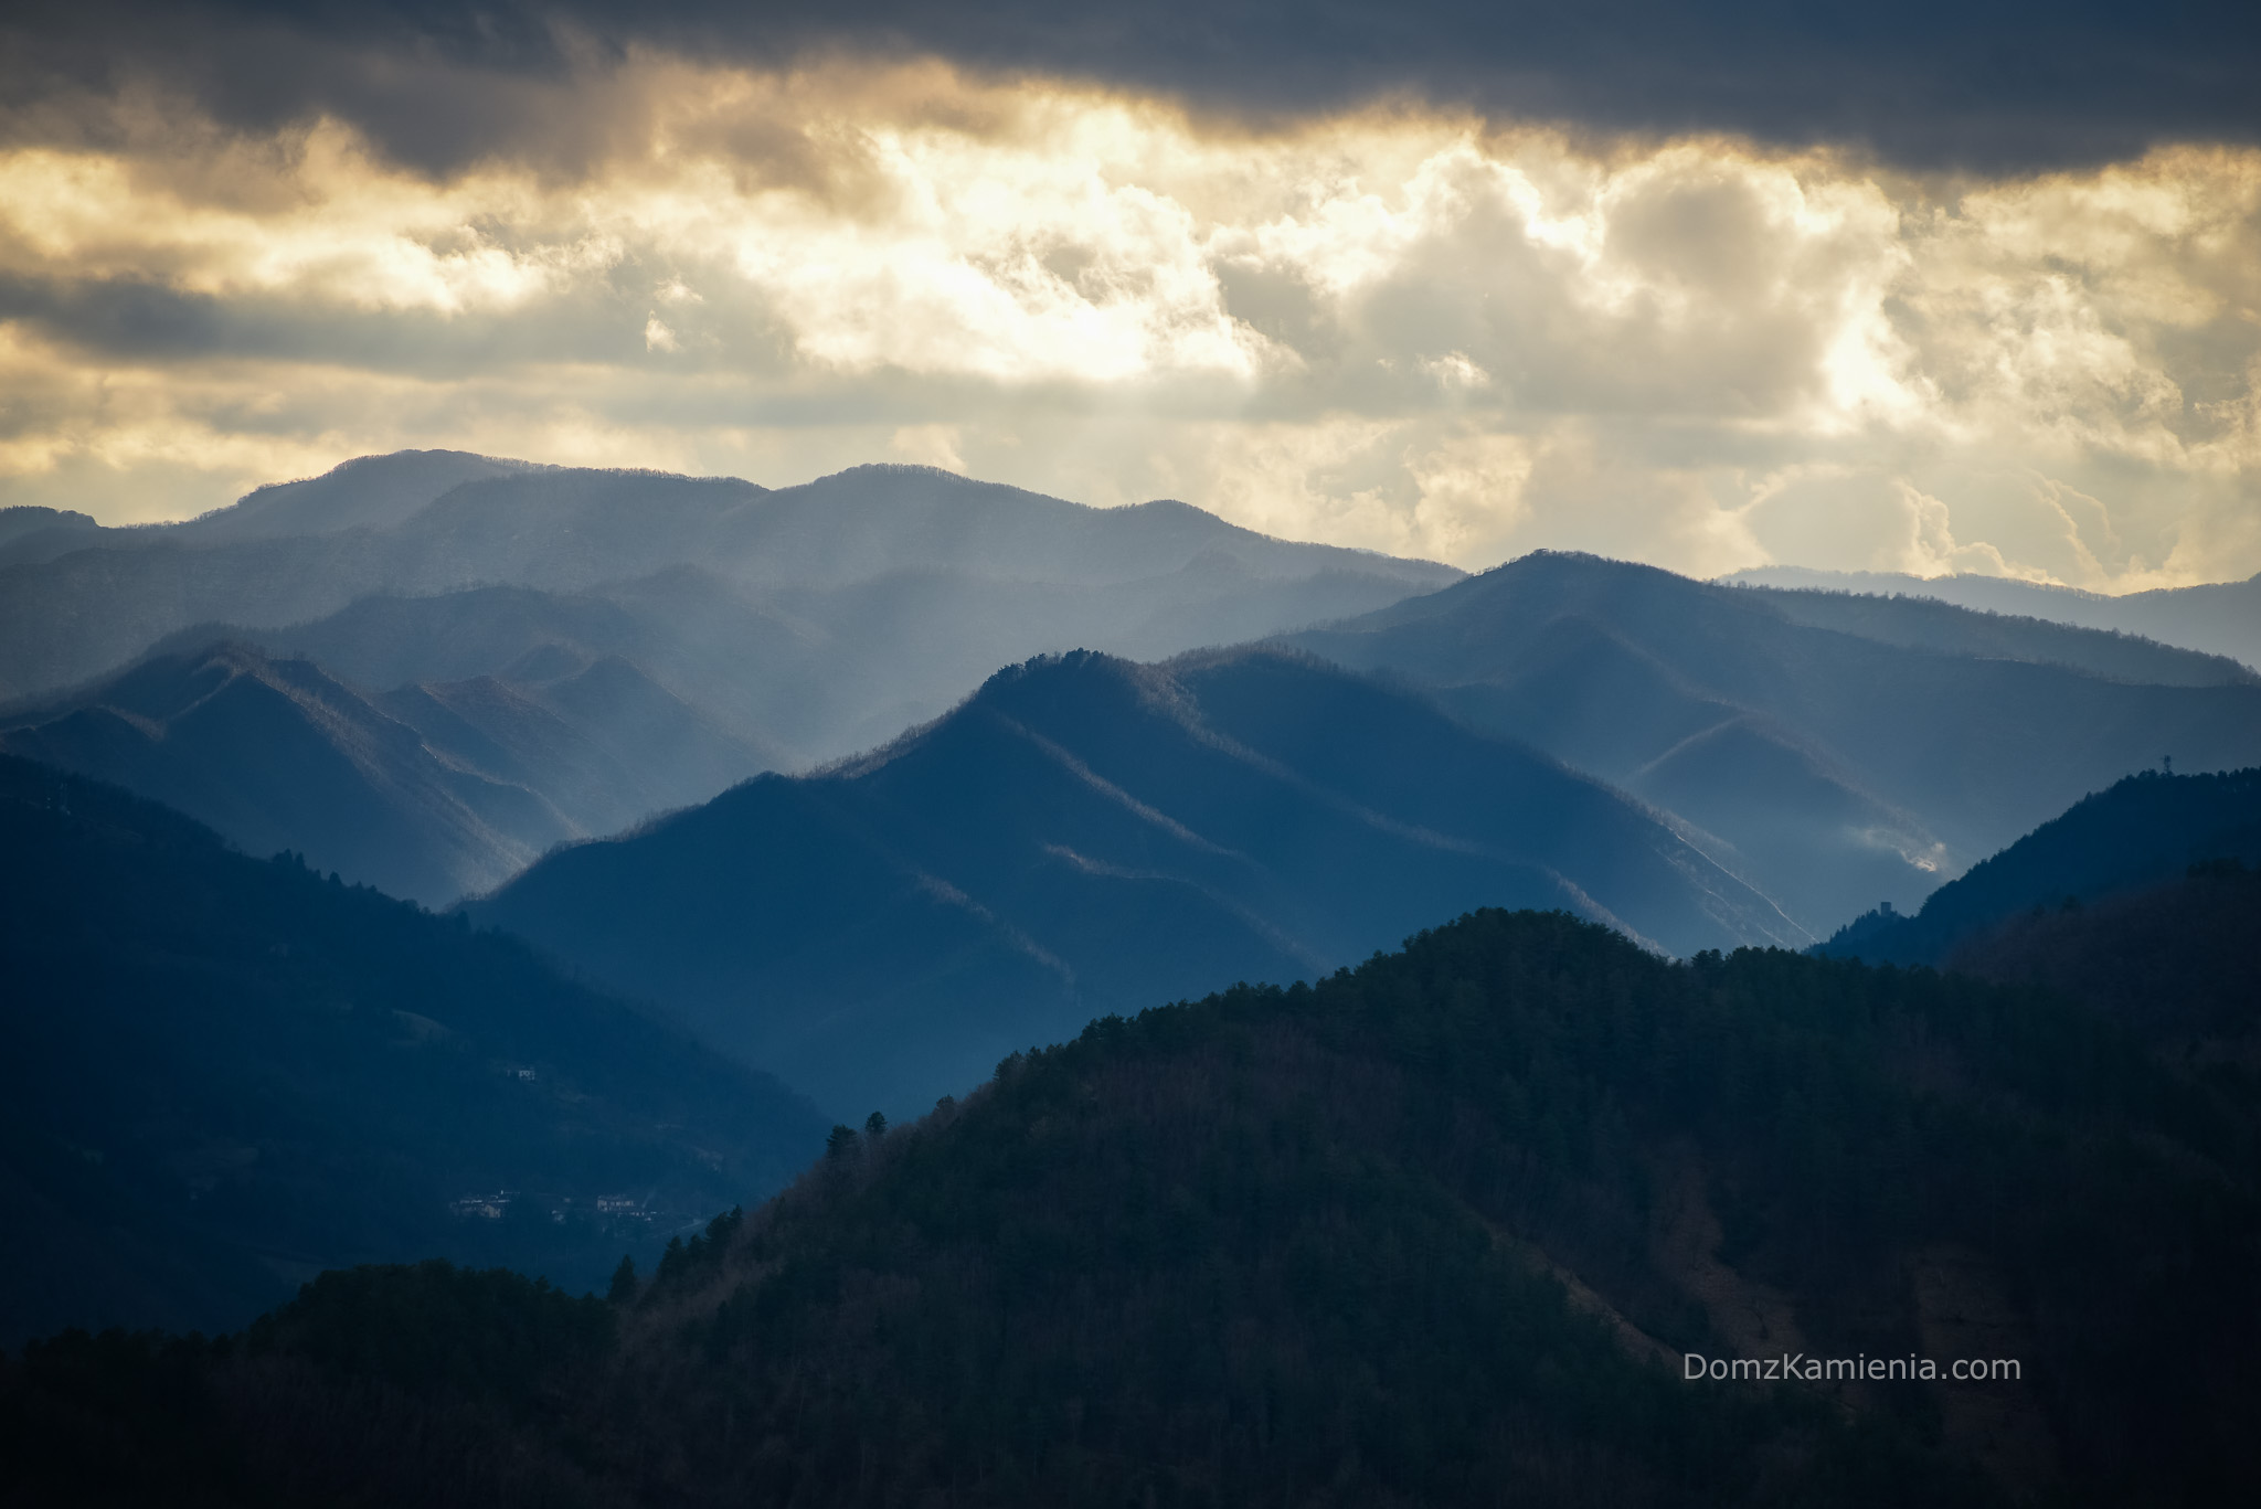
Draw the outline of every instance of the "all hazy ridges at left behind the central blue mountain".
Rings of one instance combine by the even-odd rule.
[[[1173,654],[1458,575],[929,468],[766,491],[459,452],[63,534],[0,568],[0,685],[34,692],[0,747],[430,905],[880,744],[1029,654]]]

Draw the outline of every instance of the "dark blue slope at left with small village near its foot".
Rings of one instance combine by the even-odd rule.
[[[590,1285],[823,1122],[513,939],[0,758],[0,1337],[233,1326],[321,1267]]]

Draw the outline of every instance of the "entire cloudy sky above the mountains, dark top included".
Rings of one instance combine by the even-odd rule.
[[[938,9],[11,7],[0,505],[452,446],[2261,570],[2254,7]]]

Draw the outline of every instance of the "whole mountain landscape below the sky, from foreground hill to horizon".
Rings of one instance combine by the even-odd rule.
[[[0,1339],[362,1265],[0,1355],[34,1502],[2261,1482],[2232,658],[902,468],[7,529],[142,629],[389,584],[0,717]],[[1926,894],[1816,952],[1944,975],[1797,957]]]

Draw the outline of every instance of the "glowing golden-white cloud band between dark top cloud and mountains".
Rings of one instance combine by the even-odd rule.
[[[1938,181],[651,54],[529,109],[572,161],[432,181],[151,97],[0,154],[0,500],[181,516],[400,446],[898,457],[1463,566],[2261,570],[2254,152]]]

